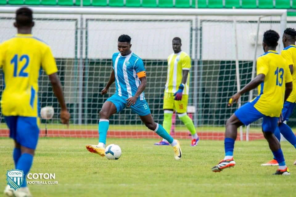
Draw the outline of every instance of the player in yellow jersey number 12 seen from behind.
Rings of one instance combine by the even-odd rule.
[[[14,22],[18,34],[0,44],[0,67],[5,86],[1,100],[2,115],[9,127],[10,138],[14,139],[15,169],[23,171],[20,181],[10,178],[7,173],[8,185],[4,190],[7,196],[31,196],[26,176],[39,137],[38,78],[41,68],[49,76],[60,103],[62,123],[68,124],[70,117],[51,49],[31,34],[34,26],[32,15],[31,9],[19,8]]]

